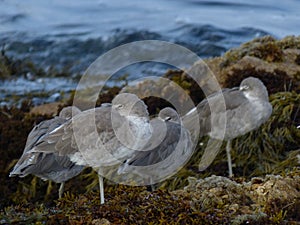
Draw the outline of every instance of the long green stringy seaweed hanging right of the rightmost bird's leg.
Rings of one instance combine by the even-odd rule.
[[[273,113],[259,129],[233,141],[236,167],[246,176],[280,173],[297,166],[295,159],[282,164],[287,154],[300,148],[300,94],[279,92],[270,96]]]

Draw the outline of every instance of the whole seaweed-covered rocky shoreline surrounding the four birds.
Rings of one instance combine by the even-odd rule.
[[[21,69],[4,55],[0,61],[1,78]],[[198,145],[190,162],[154,192],[107,182],[107,203],[99,206],[97,176],[86,169],[67,182],[64,198],[56,200],[57,185],[50,189],[32,176],[8,174],[33,125],[72,104],[72,98],[39,107],[23,101],[20,107],[0,108],[0,224],[300,224],[300,37],[254,39],[205,62],[222,87],[258,77],[273,106],[267,123],[233,141],[233,179],[226,177],[225,151],[199,173],[203,146]],[[184,71],[168,71],[165,77],[187,90],[195,103],[203,99]],[[97,104],[119,91],[108,89]],[[157,99],[145,102],[152,113],[166,106]],[[201,142],[205,145],[207,138]]]

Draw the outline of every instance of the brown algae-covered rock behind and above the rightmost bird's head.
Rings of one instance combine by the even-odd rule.
[[[260,78],[269,93],[300,91],[300,37],[254,39],[222,57],[205,60],[223,87],[237,86],[245,77]]]

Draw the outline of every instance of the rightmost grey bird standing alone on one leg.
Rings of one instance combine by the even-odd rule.
[[[239,87],[222,89],[201,101],[182,118],[186,126],[200,125],[200,137],[208,135],[212,141],[204,151],[199,170],[205,170],[212,163],[225,140],[228,173],[232,177],[231,141],[259,128],[271,114],[267,88],[255,77],[247,77]],[[200,124],[194,123],[196,115]]]

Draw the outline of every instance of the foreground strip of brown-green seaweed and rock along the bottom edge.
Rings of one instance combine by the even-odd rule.
[[[269,175],[237,182],[225,177],[189,178],[184,190],[108,186],[99,193],[70,192],[55,205],[26,203],[0,213],[6,223],[47,224],[286,224],[299,221],[299,170],[285,177]],[[294,197],[296,195],[296,197]],[[293,201],[291,201],[293,199]]]

